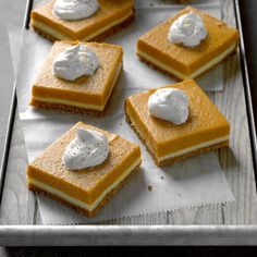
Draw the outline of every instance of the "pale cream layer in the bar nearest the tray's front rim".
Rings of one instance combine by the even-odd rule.
[[[45,183],[41,183],[35,179],[32,178],[27,178],[28,183],[35,185],[38,188],[41,188],[45,192],[49,192],[52,195],[56,195],[75,206],[81,207],[82,209],[85,209],[87,211],[93,211],[94,209],[96,209],[96,207],[103,200],[105,196],[110,193],[112,189],[114,189],[127,175],[130,175],[130,173],[135,170],[142,162],[142,159],[138,158],[137,160],[134,161],[134,163],[127,169],[125,170],[121,176],[119,176],[119,179],[117,181],[114,181],[108,188],[106,188],[102,194],[90,205],[81,201],[57,188],[53,188]]]

